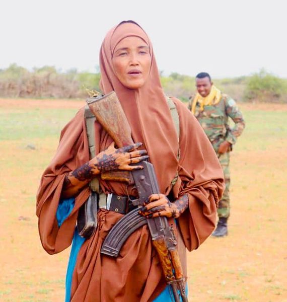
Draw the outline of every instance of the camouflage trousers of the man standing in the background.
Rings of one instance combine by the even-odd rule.
[[[225,154],[218,155],[221,167],[224,173],[225,180],[225,191],[223,196],[219,202],[218,207],[218,216],[228,218],[230,215],[230,197],[229,197],[229,187],[230,187],[230,171],[229,171],[229,161],[230,161],[230,153],[227,152]]]

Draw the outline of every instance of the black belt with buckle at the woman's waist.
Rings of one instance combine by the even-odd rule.
[[[119,196],[110,193],[107,195],[107,203],[105,208],[110,211],[126,214],[129,211],[133,210],[135,206],[132,204],[128,196]]]

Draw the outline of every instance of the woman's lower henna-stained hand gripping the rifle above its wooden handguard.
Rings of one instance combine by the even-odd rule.
[[[175,202],[170,202],[164,194],[153,194],[143,204],[145,207],[139,212],[147,218],[166,216],[178,218],[188,207],[187,194]]]

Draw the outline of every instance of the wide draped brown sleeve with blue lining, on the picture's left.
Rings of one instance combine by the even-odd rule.
[[[83,189],[75,198],[60,200],[66,173],[89,161],[83,110],[63,128],[59,145],[44,171],[37,192],[36,214],[43,248],[49,254],[67,248],[73,240],[78,209],[89,196]]]

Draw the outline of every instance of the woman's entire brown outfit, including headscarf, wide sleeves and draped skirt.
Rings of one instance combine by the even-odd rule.
[[[112,67],[112,52],[121,39],[135,35],[149,46],[152,66],[148,82],[138,90],[121,85]],[[101,86],[104,93],[112,90],[131,125],[134,141],[141,141],[155,166],[161,192],[168,193],[176,171],[179,178],[173,187],[175,197],[188,194],[189,208],[178,218],[179,231],[188,250],[198,246],[211,234],[216,211],[224,189],[223,172],[214,150],[201,126],[179,100],[173,101],[180,118],[180,137],[173,126],[162,90],[153,49],[146,33],[134,23],[121,23],[108,32],[101,48]],[[58,227],[56,211],[65,173],[89,160],[89,147],[84,110],[64,127],[52,162],[44,171],[37,194],[39,233],[49,254],[67,248],[75,232],[79,207],[89,195],[83,189],[75,198],[70,215]],[[96,153],[111,142],[101,126],[95,123]],[[177,151],[180,148],[180,160]],[[120,194],[121,183],[104,183],[102,187]],[[134,232],[116,259],[100,255],[101,244],[109,230],[121,217],[113,211],[98,211],[98,228],[81,247],[73,274],[71,301],[151,301],[165,287],[162,271],[152,248],[147,226]]]

